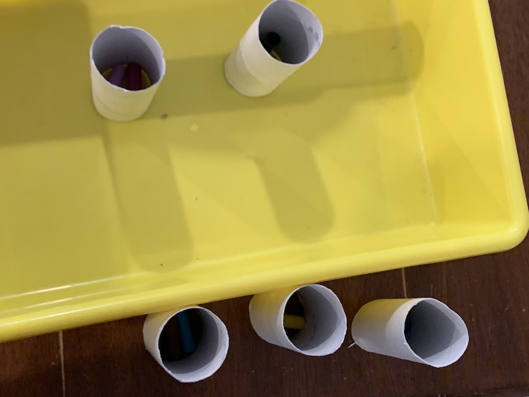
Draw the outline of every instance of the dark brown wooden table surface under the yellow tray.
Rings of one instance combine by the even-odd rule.
[[[461,0],[466,1],[466,0]],[[490,0],[529,191],[529,0]],[[213,377],[179,384],[142,344],[144,317],[0,344],[0,396],[529,396],[529,239],[509,252],[325,283],[349,319],[376,298],[433,296],[465,319],[470,345],[444,369],[347,348],[308,358],[255,335],[250,297],[205,305],[230,334]]]

